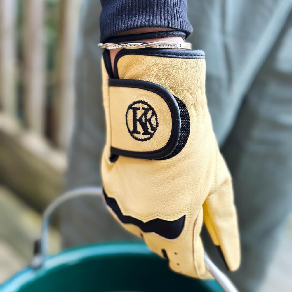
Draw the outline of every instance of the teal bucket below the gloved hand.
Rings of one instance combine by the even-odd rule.
[[[213,280],[171,272],[167,260],[142,243],[112,243],[64,251],[27,267],[0,286],[0,292],[223,292]]]

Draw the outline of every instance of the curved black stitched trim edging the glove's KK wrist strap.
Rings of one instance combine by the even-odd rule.
[[[166,143],[166,145],[164,145],[164,147],[154,151],[146,152],[128,151],[111,147],[111,153],[143,159],[158,159],[170,155],[178,144],[178,140],[180,137],[180,110],[174,96],[166,88],[158,84],[142,80],[109,79],[109,86],[133,87],[152,91],[164,99],[171,112],[171,134],[168,142]]]

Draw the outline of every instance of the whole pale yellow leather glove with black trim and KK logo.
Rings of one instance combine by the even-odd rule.
[[[123,49],[102,65],[104,196],[170,268],[209,278],[203,220],[230,270],[240,263],[232,180],[212,129],[203,51]]]

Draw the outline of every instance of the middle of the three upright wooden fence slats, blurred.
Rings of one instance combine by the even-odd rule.
[[[44,132],[45,106],[45,47],[44,47],[44,2],[24,1],[24,76],[25,76],[25,121],[29,128]]]

